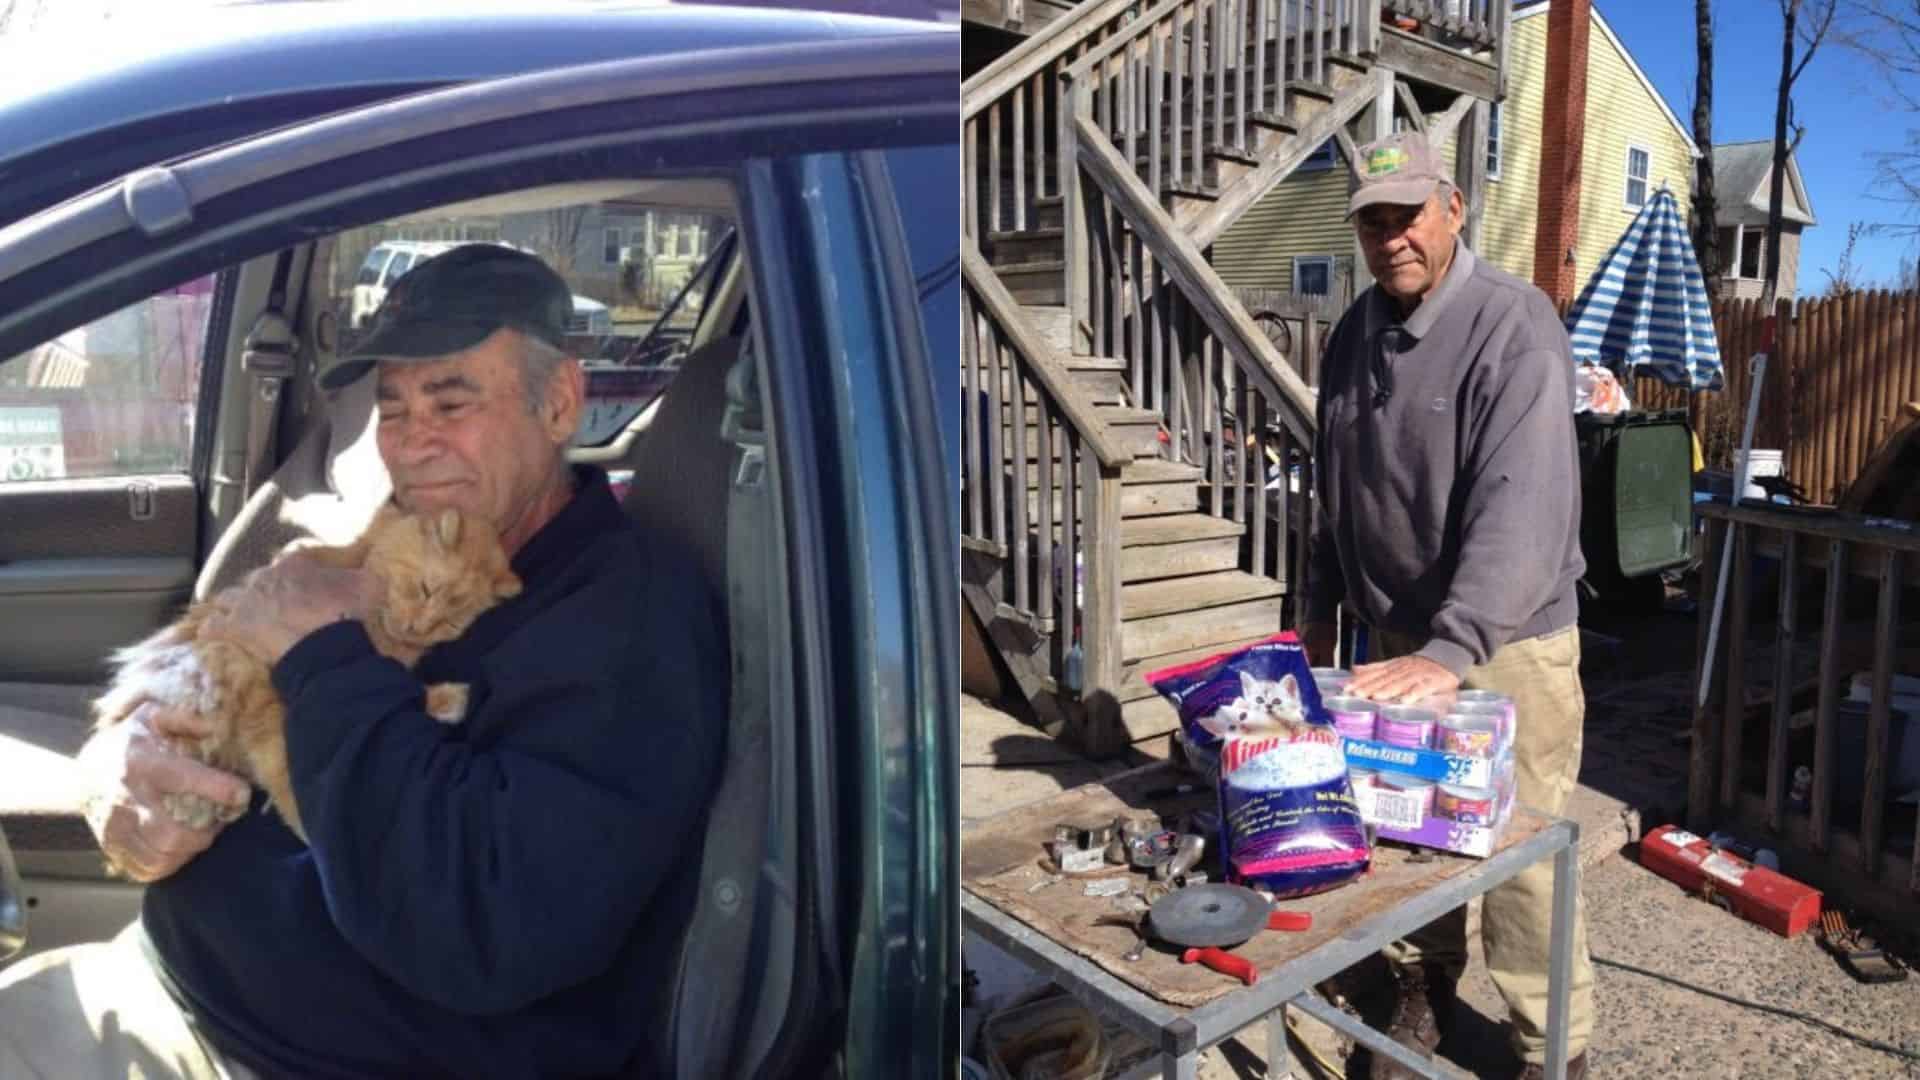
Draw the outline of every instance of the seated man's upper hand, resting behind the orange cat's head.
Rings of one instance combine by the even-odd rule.
[[[230,590],[202,632],[228,640],[267,665],[301,638],[342,619],[361,621],[380,600],[380,578],[323,565],[305,553],[253,571]]]

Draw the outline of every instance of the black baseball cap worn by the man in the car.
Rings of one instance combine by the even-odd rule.
[[[566,348],[574,294],[561,275],[501,244],[461,244],[413,267],[386,290],[372,327],[321,386],[338,390],[380,361],[440,359],[513,327]]]

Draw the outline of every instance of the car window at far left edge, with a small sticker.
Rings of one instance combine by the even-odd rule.
[[[186,473],[211,307],[202,277],[0,363],[0,482]]]

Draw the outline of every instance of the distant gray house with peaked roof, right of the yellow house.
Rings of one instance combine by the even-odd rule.
[[[1715,298],[1759,300],[1766,277],[1766,202],[1774,194],[1774,140],[1728,142],[1713,148],[1715,225],[1720,229],[1720,281]],[[1801,231],[1818,225],[1812,200],[1788,154],[1788,190],[1780,200],[1780,300],[1799,296]]]

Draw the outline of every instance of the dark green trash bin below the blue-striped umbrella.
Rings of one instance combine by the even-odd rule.
[[[1693,432],[1686,409],[1574,415],[1580,548],[1599,594],[1657,596],[1693,561]]]

